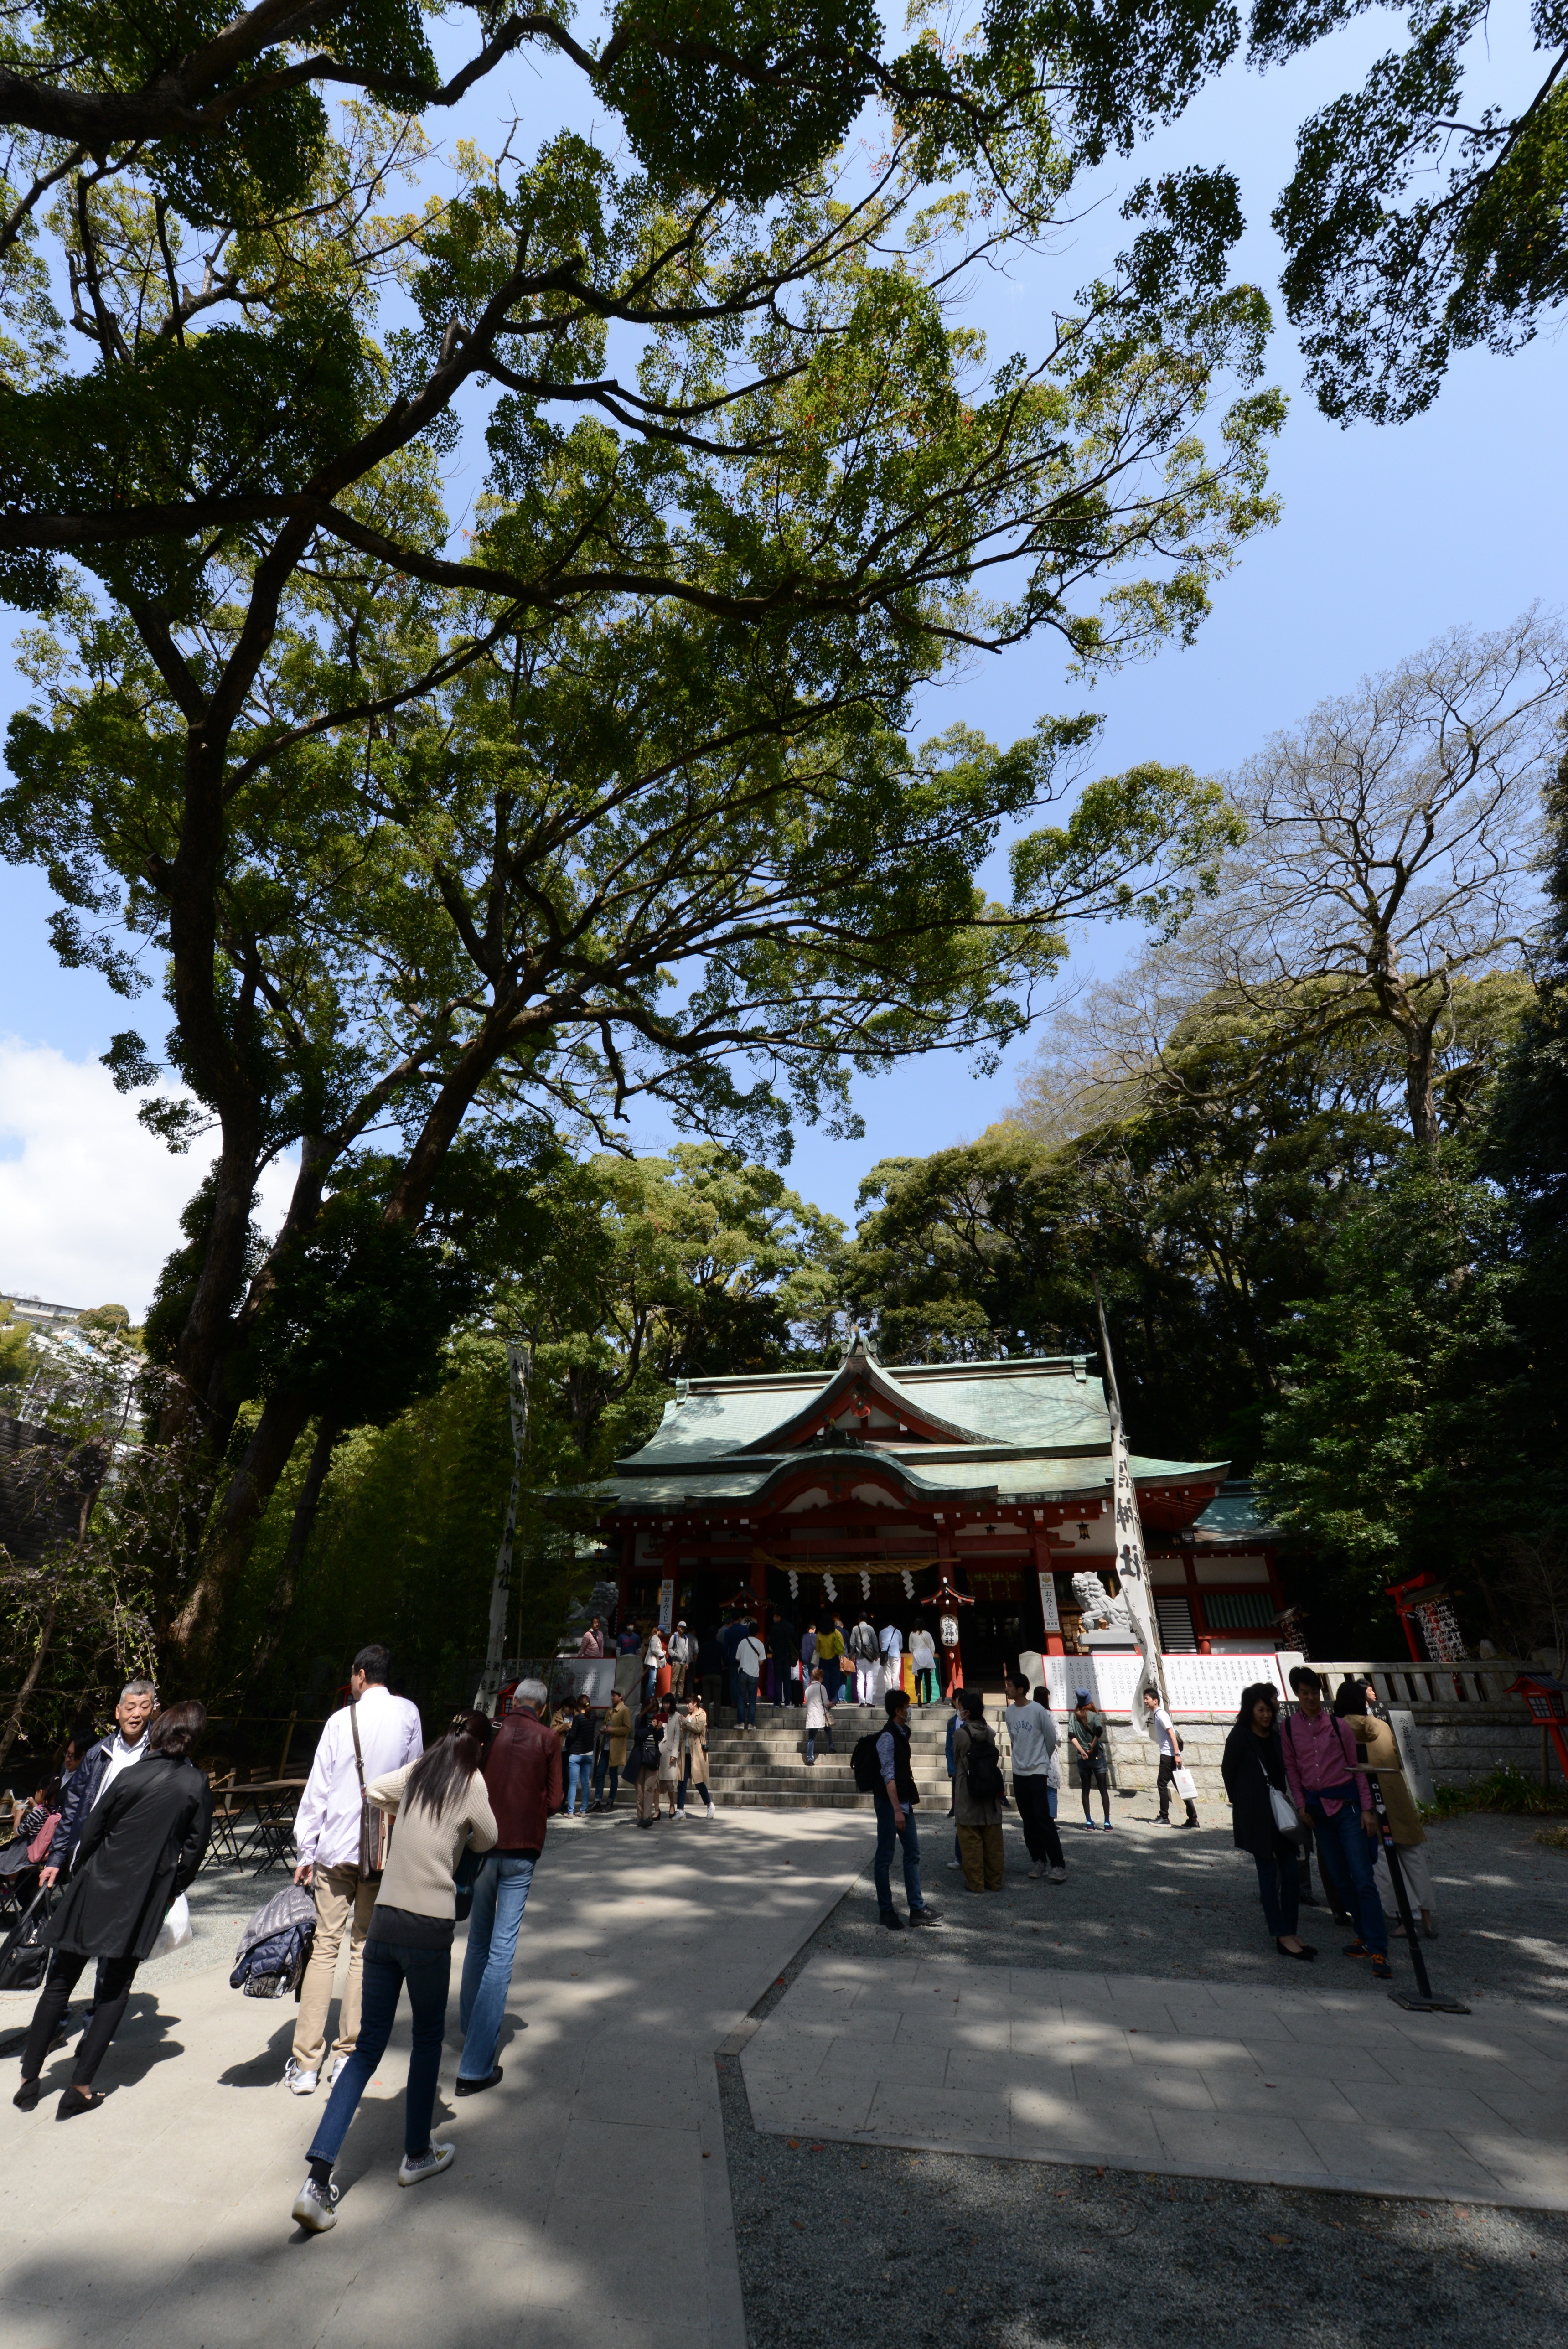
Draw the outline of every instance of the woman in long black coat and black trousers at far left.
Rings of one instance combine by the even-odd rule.
[[[21,2051],[23,2112],[38,2105],[38,2077],[66,2020],[70,1992],[92,1957],[103,1959],[92,2022],[82,2032],[56,2119],[92,2112],[103,2098],[92,2079],[124,2020],[136,1966],[153,1950],[174,1898],[195,1879],[211,1832],[211,1788],[190,1759],[207,1708],[169,1705],[148,1729],[148,1757],[120,1771],[92,1809],[75,1846],[66,1898],[42,1931],[49,1978],[38,1994]]]

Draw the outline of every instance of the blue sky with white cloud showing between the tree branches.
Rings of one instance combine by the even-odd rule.
[[[1176,160],[1228,162],[1249,216],[1239,272],[1272,294],[1268,211],[1291,169],[1296,122],[1361,78],[1387,45],[1390,23],[1383,14],[1361,19],[1284,73],[1230,70],[1136,169],[1122,167],[1115,179],[1127,186]],[[1493,26],[1488,89],[1519,87],[1528,70],[1528,49],[1509,49],[1507,31]],[[516,103],[526,122],[540,122],[554,82],[519,66],[514,89],[493,103]],[[472,113],[462,127],[486,136]],[[1052,303],[1070,301],[1099,251],[1113,249],[1117,226],[1108,202],[1075,247],[1033,256],[1007,282],[976,289],[969,317],[986,327],[993,357],[1038,345]],[[1277,317],[1270,381],[1291,395],[1272,465],[1284,514],[1221,580],[1199,641],[1096,686],[1063,677],[1054,641],[1019,646],[934,693],[922,728],[967,719],[1012,740],[1047,709],[1091,707],[1106,714],[1101,770],[1164,759],[1223,773],[1314,700],[1444,627],[1493,627],[1533,601],[1566,601],[1561,329],[1512,359],[1462,357],[1437,406],[1411,425],[1340,430],[1303,390],[1293,336]],[[0,660],[0,714],[19,698],[9,660]],[[110,1034],[127,1024],[127,1005],[92,972],[59,970],[47,911],[38,876],[0,869],[0,1290],[9,1283],[77,1304],[115,1294],[141,1311],[197,1167],[162,1160],[134,1130],[129,1104],[92,1073]],[[1080,935],[1073,968],[1113,968],[1134,947],[1136,935],[1120,928]],[[143,998],[148,1008],[157,1022],[157,1005]],[[876,1158],[939,1149],[995,1118],[1030,1050],[1014,1048],[991,1078],[941,1059],[861,1085],[864,1142],[805,1130],[789,1179],[850,1217]],[[634,1132],[643,1146],[662,1139],[653,1120]],[[73,1160],[80,1182],[70,1179]],[[113,1212],[106,1184],[117,1191]]]

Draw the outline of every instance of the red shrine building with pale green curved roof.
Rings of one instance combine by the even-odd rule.
[[[1225,1461],[1134,1456],[1160,1637],[1181,1654],[1272,1654],[1277,1534]],[[861,1337],[838,1369],[683,1379],[648,1445],[594,1489],[620,1562],[620,1621],[765,1626],[836,1609],[934,1628],[946,1579],[962,1668],[1084,1640],[1073,1576],[1115,1595],[1110,1412],[1084,1355],[883,1367]]]

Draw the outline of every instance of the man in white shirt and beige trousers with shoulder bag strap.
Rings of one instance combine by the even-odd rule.
[[[326,2008],[331,2006],[338,1947],[347,1929],[347,1983],[338,2011],[331,2077],[347,2062],[359,2039],[359,1980],[364,1938],[380,1877],[359,1875],[359,1813],[364,1788],[385,1778],[404,1762],[418,1762],[425,1750],[418,1705],[392,1696],[385,1647],[361,1647],[347,1677],[350,1703],[329,1719],[310,1764],[310,1778],[293,1820],[296,1884],[310,1884],[317,1903],[317,1933],[300,1983],[300,2011],[293,2025],[293,2053],[284,2081],[296,2095],[310,2095],[322,2077],[326,2053]],[[354,1731],[359,1752],[354,1752]],[[361,1776],[364,1771],[364,1776]]]

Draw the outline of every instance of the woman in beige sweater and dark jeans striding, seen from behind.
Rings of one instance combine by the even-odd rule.
[[[446,1992],[451,1987],[458,1886],[453,1872],[465,1849],[491,1851],[495,1813],[484,1785],[484,1757],[493,1724],[484,1712],[460,1712],[444,1738],[418,1762],[371,1778],[366,1795],[397,1816],[392,1851],[380,1877],[371,1931],[364,1943],[364,2001],[359,2044],[338,2069],[322,2126],[310,2145],[310,2178],[293,2201],[293,2217],[310,2234],[338,2225],[333,2161],[359,2109],[359,2098],[387,2053],[392,2018],[404,1983],[413,2013],[408,2095],[404,2102],[404,2161],[399,2187],[420,2185],[444,2170],[453,2145],[430,2142],[437,2102]]]

